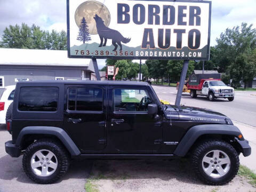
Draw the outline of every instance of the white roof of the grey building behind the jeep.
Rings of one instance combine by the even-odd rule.
[[[89,67],[91,61],[70,59],[67,51],[59,50],[0,48],[0,55],[0,65]]]

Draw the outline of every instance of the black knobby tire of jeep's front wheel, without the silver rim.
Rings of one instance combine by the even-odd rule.
[[[212,178],[207,175],[202,166],[203,157],[212,150],[221,150],[225,152],[230,159],[229,171],[220,178]],[[224,185],[234,179],[239,169],[239,155],[237,151],[226,141],[223,140],[205,140],[196,147],[191,153],[191,164],[197,177],[208,185]]]

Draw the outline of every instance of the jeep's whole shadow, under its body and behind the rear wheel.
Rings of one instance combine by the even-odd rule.
[[[22,168],[22,156],[12,158],[5,155],[0,158],[0,179],[17,179],[22,183],[34,183]],[[119,179],[161,179],[168,181],[177,179],[181,182],[203,185],[195,179],[187,159],[172,160],[74,160],[71,161],[69,171],[57,183],[68,179],[94,178]]]

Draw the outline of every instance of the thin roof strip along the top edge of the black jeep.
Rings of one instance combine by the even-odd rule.
[[[83,84],[83,85],[136,85],[136,86],[147,86],[147,82],[137,82],[137,81],[27,81],[18,82],[17,84]]]

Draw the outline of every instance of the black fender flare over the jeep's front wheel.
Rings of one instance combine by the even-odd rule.
[[[205,134],[220,134],[220,135],[232,135],[238,137],[242,134],[241,131],[234,125],[226,124],[207,124],[207,125],[196,125],[191,127],[184,137],[179,142],[179,145],[174,150],[174,155],[184,157],[189,149],[194,145],[196,140]]]

